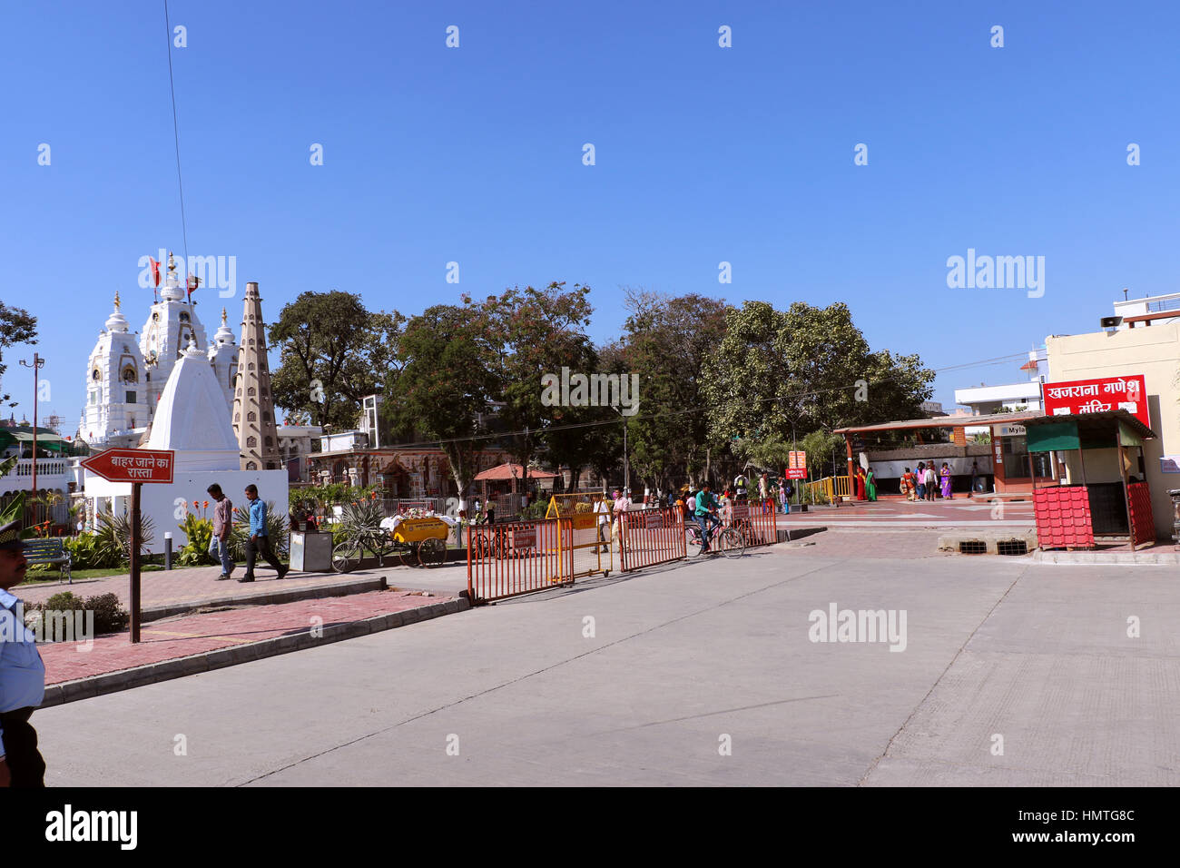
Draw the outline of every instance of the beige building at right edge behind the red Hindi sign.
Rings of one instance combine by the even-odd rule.
[[[1156,319],[1149,325],[1047,338],[1049,378],[1045,386],[1064,380],[1143,376],[1156,437],[1143,443],[1143,465],[1132,466],[1128,472],[1146,479],[1150,487],[1155,536],[1167,540],[1173,522],[1168,489],[1180,488],[1180,474],[1165,472],[1161,458],[1180,455],[1180,321]],[[1076,469],[1073,462],[1068,463],[1070,481],[1077,482]],[[1089,478],[1099,475],[1117,478],[1116,450],[1087,450],[1086,474]]]

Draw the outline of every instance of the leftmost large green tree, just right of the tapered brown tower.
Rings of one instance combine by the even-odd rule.
[[[361,400],[398,358],[404,322],[396,311],[371,313],[360,295],[301,293],[270,327],[281,360],[271,378],[275,403],[314,425],[355,426]]]

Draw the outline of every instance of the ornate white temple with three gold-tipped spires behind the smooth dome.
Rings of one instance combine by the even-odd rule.
[[[114,294],[114,311],[86,365],[86,406],[78,436],[91,446],[139,444],[152,423],[168,377],[190,341],[202,348],[225,396],[227,409],[232,409],[238,347],[225,311],[212,342],[206,342],[205,328],[181,285],[171,255],[159,295],[143,332],[133,333],[120,311],[119,295]]]

